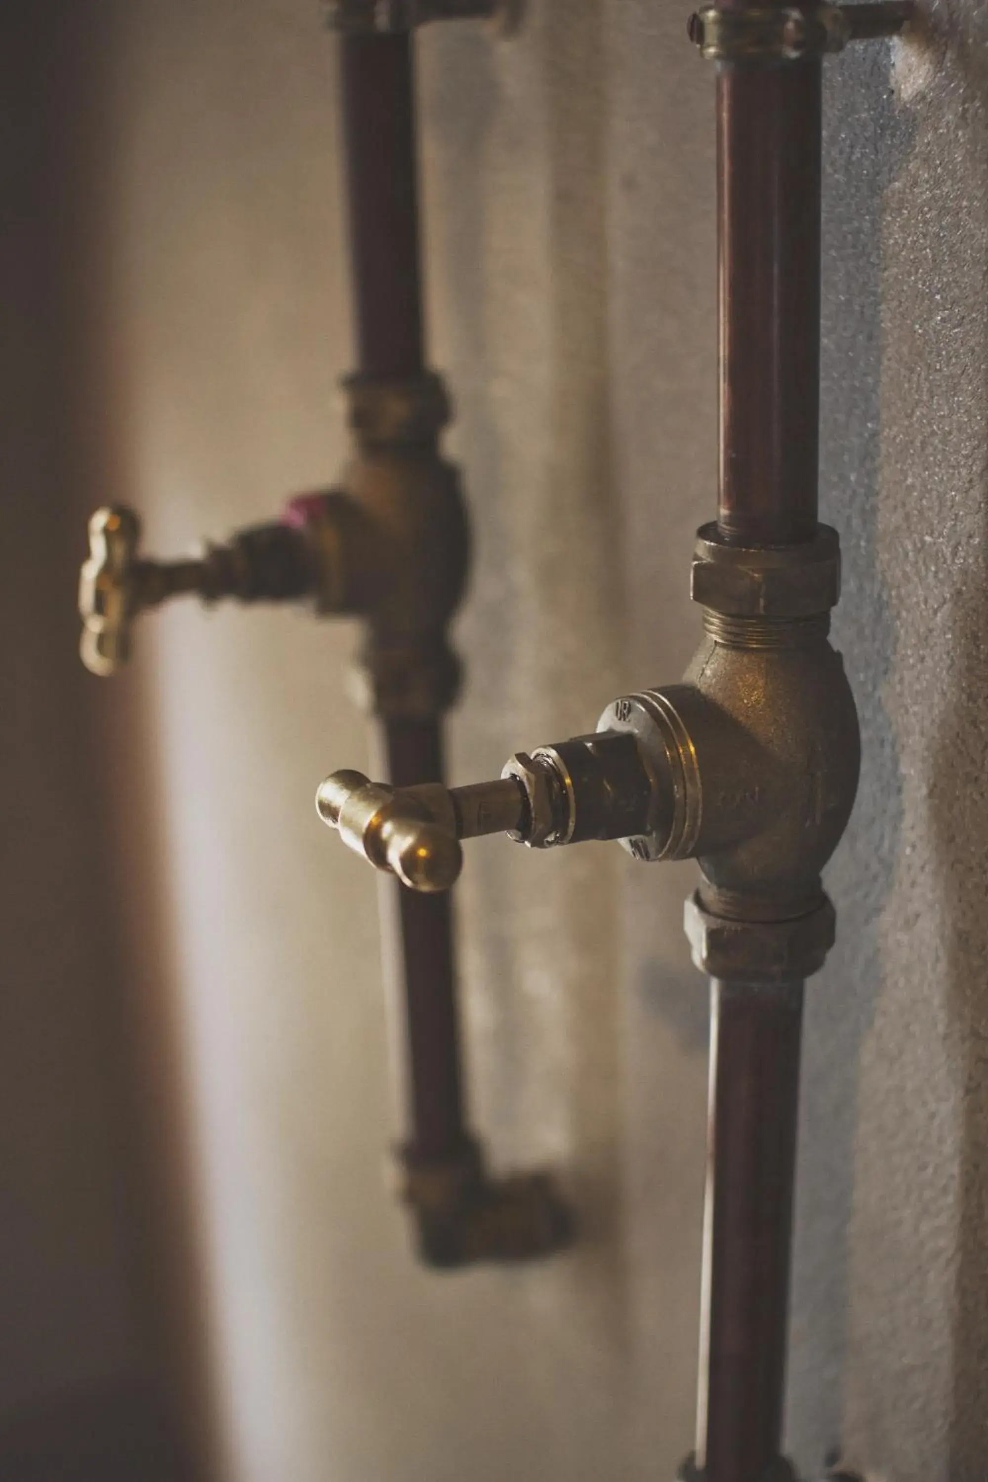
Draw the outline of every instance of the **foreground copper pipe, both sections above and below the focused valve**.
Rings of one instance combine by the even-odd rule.
[[[816,531],[821,92],[819,59],[717,79],[718,526],[736,544]],[[763,1482],[782,1443],[803,984],[711,991],[696,1449],[705,1482]]]

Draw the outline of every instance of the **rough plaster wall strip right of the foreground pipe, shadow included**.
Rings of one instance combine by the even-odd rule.
[[[889,1479],[988,1472],[985,16],[828,89],[824,511],[865,766],[810,990],[791,1426]],[[841,1427],[843,1409],[843,1427]]]

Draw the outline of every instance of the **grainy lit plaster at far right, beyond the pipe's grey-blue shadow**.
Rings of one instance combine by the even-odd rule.
[[[976,6],[939,27],[927,68],[904,68],[883,225],[877,532],[901,800],[862,1046],[847,1393],[865,1460],[967,1482],[988,1466],[988,31]]]

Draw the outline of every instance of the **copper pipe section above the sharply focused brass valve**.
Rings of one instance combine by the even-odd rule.
[[[720,510],[741,545],[816,529],[821,64],[717,79]]]

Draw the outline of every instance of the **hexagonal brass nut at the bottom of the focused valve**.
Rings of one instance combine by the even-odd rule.
[[[742,922],[714,916],[699,892],[686,903],[683,925],[693,962],[711,978],[733,983],[788,983],[819,972],[834,946],[837,916],[824,895],[807,916],[784,922]]]

